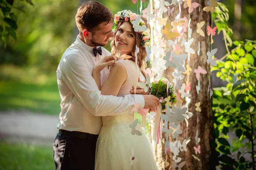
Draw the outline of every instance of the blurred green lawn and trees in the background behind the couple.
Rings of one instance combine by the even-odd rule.
[[[2,2],[0,1],[0,6]],[[8,1],[8,0],[7,0]],[[28,1],[28,2],[26,2]],[[75,41],[78,30],[75,14],[80,0],[14,0],[11,11],[17,16],[17,37],[0,40],[0,114],[53,115],[58,122],[60,96],[56,69],[63,52]],[[131,0],[99,0],[113,14],[123,9],[137,12]],[[148,4],[145,0],[143,8]],[[221,0],[229,12],[232,40],[256,39],[255,0]],[[241,8],[241,17],[236,13]],[[3,14],[0,10],[0,28]],[[241,26],[238,29],[237,26]],[[0,34],[3,30],[0,29]],[[222,35],[215,36],[215,47],[226,54]],[[6,46],[5,46],[6,44]],[[110,50],[109,45],[107,47]],[[254,62],[255,64],[255,62]],[[225,85],[217,78],[214,86]],[[28,113],[28,114],[27,114]],[[1,116],[0,116],[1,117]],[[136,114],[136,118],[141,119]],[[13,122],[6,122],[12,124]],[[43,122],[47,126],[48,122]],[[1,128],[5,128],[0,126]],[[30,129],[32,130],[32,129]],[[54,169],[52,143],[9,140],[0,129],[0,170]],[[54,139],[52,136],[52,141]],[[30,136],[30,138],[32,138]]]

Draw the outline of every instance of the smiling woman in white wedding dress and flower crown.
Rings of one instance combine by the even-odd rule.
[[[143,17],[139,24],[132,21],[137,14],[131,11],[119,11],[115,14],[114,37],[111,40],[112,55],[119,56],[113,65],[108,79],[102,87],[100,67],[93,68],[93,78],[103,95],[124,96],[130,94],[134,82],[138,83],[140,73],[145,68],[146,50],[150,45],[150,29]],[[139,18],[137,18],[136,23]],[[134,27],[143,27],[145,31],[135,32]],[[137,65],[135,49],[137,54]],[[151,144],[140,125],[134,121],[134,114],[102,116],[102,128],[96,145],[95,170],[157,170]]]

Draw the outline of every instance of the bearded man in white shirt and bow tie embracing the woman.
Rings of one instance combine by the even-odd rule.
[[[79,35],[64,52],[57,69],[61,113],[53,143],[55,170],[94,170],[96,142],[102,126],[101,116],[130,113],[135,102],[139,108],[154,110],[159,99],[153,95],[101,95],[92,77],[93,66],[102,67],[115,60],[105,48],[111,31],[113,14],[97,1],[80,6],[76,14]],[[109,74],[101,71],[101,82]]]

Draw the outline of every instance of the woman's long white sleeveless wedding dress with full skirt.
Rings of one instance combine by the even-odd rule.
[[[133,61],[117,62],[125,66],[128,74],[117,95],[124,96],[130,94],[134,80],[138,82],[140,71]],[[102,128],[96,145],[95,170],[157,170],[151,144],[140,125],[136,126],[136,130],[142,135],[131,134],[133,129],[129,125],[133,122],[132,111],[131,114],[102,116]]]

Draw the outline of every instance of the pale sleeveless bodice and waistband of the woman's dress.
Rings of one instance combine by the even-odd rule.
[[[116,63],[121,63],[125,66],[127,72],[127,79],[125,84],[119,90],[117,96],[124,96],[126,94],[130,94],[132,86],[134,85],[134,81],[137,84],[138,78],[140,75],[140,69],[135,64],[135,62],[131,60],[118,60]],[[102,126],[113,126],[113,125],[120,125],[120,124],[130,124],[134,121],[133,114],[120,114],[116,116],[102,116]]]

